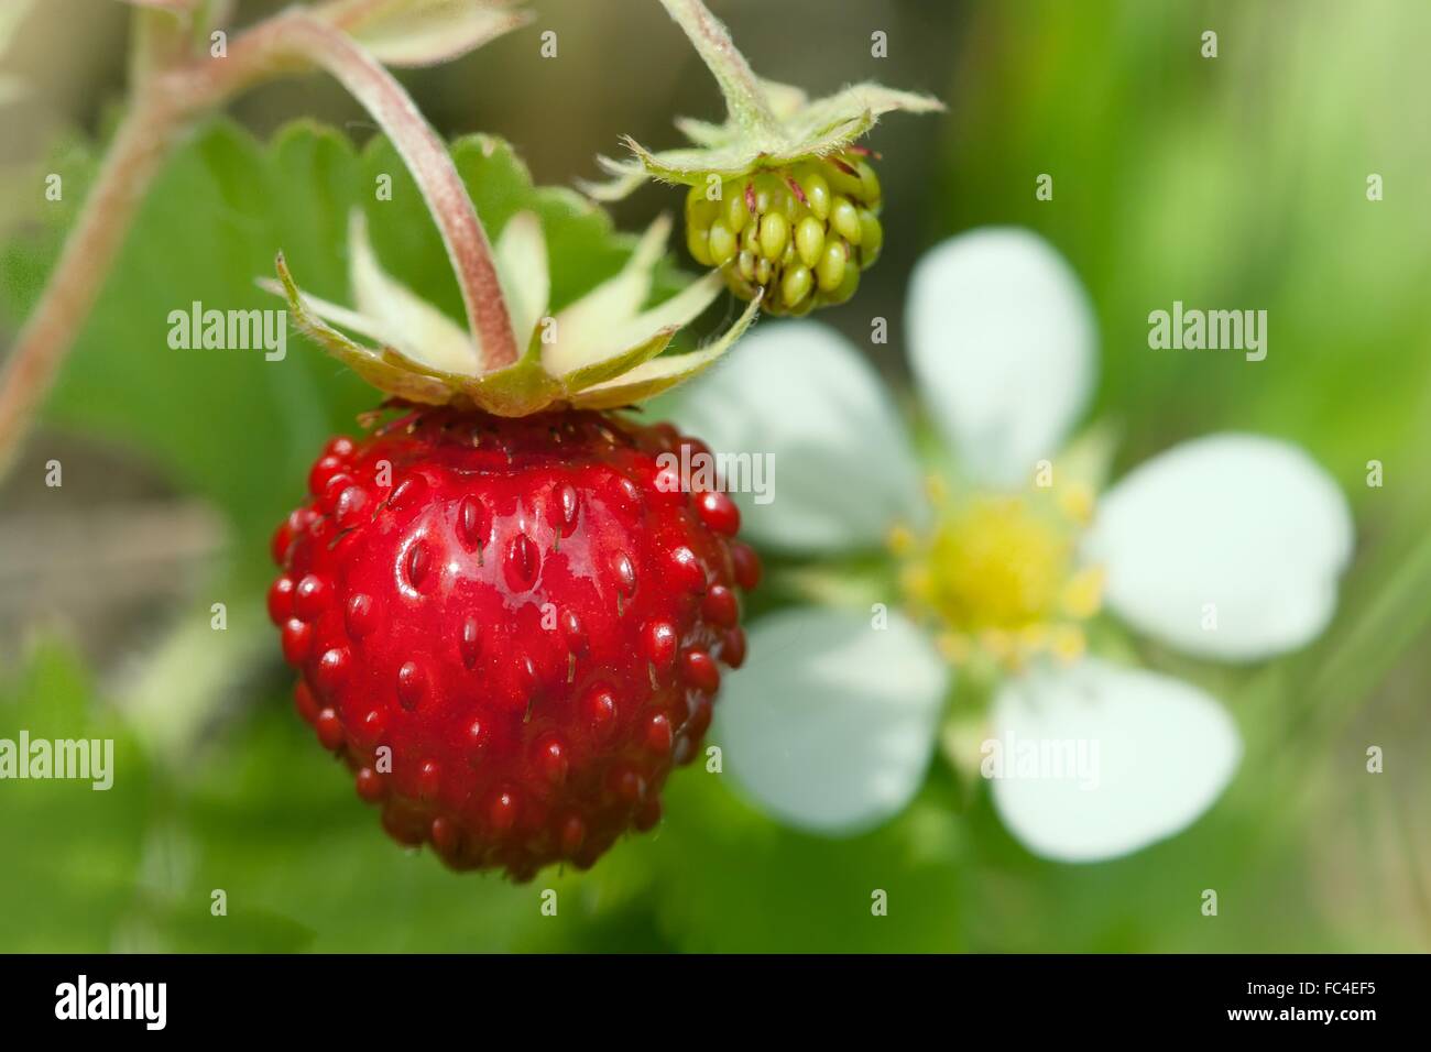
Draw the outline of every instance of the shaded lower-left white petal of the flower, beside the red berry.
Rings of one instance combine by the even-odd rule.
[[[817,832],[897,813],[924,779],[949,667],[913,624],[800,607],[754,624],[716,704],[726,770],[766,810]]]

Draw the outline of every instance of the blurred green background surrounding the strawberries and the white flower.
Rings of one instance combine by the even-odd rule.
[[[239,20],[276,7],[240,3]],[[621,133],[668,146],[671,116],[718,113],[655,0],[532,7],[528,29],[402,74],[439,130],[499,135],[538,183],[570,185]],[[0,784],[0,950],[1431,949],[1431,6],[711,7],[766,76],[811,92],[877,77],[949,102],[944,117],[876,129],[884,256],[853,303],[821,315],[857,336],[889,318],[874,352],[892,384],[907,389],[899,319],[919,253],[1022,223],[1093,296],[1093,415],[1118,425],[1120,468],[1252,429],[1302,444],[1347,491],[1357,561],[1314,647],[1238,671],[1148,654],[1234,711],[1246,757],[1228,794],[1168,843],[1066,866],[1027,854],[942,766],[902,817],[853,840],[783,829],[695,767],[673,777],[654,834],[584,876],[512,886],[398,850],[292,714],[262,615],[269,530],[323,438],[353,431],[373,398],[298,338],[282,366],[163,342],[167,312],[193,299],[265,305],[252,278],[278,248],[315,292],[342,296],[348,202],[391,159],[279,133],[302,116],[359,146],[372,136],[335,84],[309,77],[248,96],[166,169],[0,484],[0,737],[114,736],[120,764],[109,793]],[[30,84],[0,110],[6,344],[113,125],[126,13],[46,0],[6,59]],[[1215,60],[1199,54],[1209,29]],[[554,59],[539,54],[545,30]],[[887,59],[870,54],[874,30]],[[66,175],[53,206],[40,193],[52,170]],[[1040,173],[1052,202],[1035,199]],[[1372,173],[1384,200],[1367,199]],[[617,219],[640,229],[678,206],[648,187]],[[406,220],[379,252],[451,296],[421,212]],[[1149,352],[1148,312],[1173,299],[1266,309],[1268,359]],[[62,490],[44,485],[49,459]],[[1381,488],[1365,481],[1372,459]],[[547,887],[555,917],[539,910]],[[1218,917],[1201,913],[1206,887]],[[226,917],[210,916],[213,889]],[[889,916],[871,916],[871,889],[889,892]]]

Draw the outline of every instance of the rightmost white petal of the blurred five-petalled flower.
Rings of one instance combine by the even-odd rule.
[[[1351,512],[1331,477],[1295,445],[1236,434],[1136,468],[1099,504],[1085,548],[1133,627],[1231,661],[1318,635],[1351,550]]]

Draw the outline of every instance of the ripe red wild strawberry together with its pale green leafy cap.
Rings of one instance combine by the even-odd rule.
[[[484,157],[505,149],[481,143]],[[660,220],[620,273],[550,312],[538,210],[581,223],[578,238],[552,230],[581,253],[590,209],[532,190],[489,246],[454,175],[428,162],[414,175],[442,183],[425,196],[468,331],[384,272],[361,213],[348,242],[356,309],[303,293],[282,256],[268,285],[399,411],[318,457],[309,500],[273,535],[269,613],[301,673],[298,711],[388,833],[454,869],[529,879],[554,862],[590,866],[660,819],[721,670],[744,661],[740,594],[760,562],[733,540],[736,505],[670,485],[657,458],[688,462],[707,452],[695,439],[617,411],[716,362],[758,299],[700,349],[663,354],[723,281],[707,273],[647,306]]]

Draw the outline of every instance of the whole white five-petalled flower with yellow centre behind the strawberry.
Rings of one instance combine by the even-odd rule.
[[[830,557],[893,528],[900,554],[883,630],[869,607],[754,624],[748,664],[717,706],[728,770],[791,824],[873,826],[917,792],[946,703],[959,711],[954,668],[992,670],[986,759],[995,740],[1093,750],[1080,777],[1019,776],[1010,754],[992,779],[1030,850],[1095,860],[1179,832],[1236,769],[1234,721],[1189,683],[1085,656],[1085,627],[1106,605],[1224,661],[1308,643],[1351,557],[1342,494],[1294,445],[1219,434],[1152,458],[1095,504],[1092,444],[1065,448],[1095,385],[1093,312],[1029,232],[936,246],[907,311],[917,386],[954,465],[932,511],[894,404],[819,323],[761,326],[680,405],[713,448],[774,454],[776,500],[737,495],[757,544]]]

